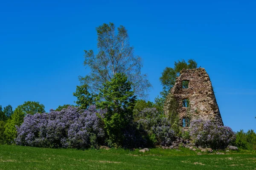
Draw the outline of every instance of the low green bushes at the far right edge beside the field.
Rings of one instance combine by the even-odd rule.
[[[236,146],[248,150],[256,150],[256,133],[253,130],[240,130],[236,133]]]

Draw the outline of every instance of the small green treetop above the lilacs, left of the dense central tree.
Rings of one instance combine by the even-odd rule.
[[[76,92],[73,93],[73,96],[77,97],[76,104],[81,109],[87,109],[89,105],[95,104],[95,95],[89,93],[87,84],[77,85]]]

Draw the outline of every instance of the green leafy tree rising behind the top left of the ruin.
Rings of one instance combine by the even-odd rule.
[[[176,77],[180,76],[180,71],[183,69],[194,69],[197,68],[197,62],[194,59],[189,59],[186,62],[184,59],[174,62],[174,68],[166,67],[163,70],[160,82],[163,85],[163,91],[160,93],[163,98],[169,94],[171,88],[175,85]],[[186,83],[186,82],[185,82]],[[188,84],[187,84],[188,85]],[[186,84],[184,84],[186,86]]]

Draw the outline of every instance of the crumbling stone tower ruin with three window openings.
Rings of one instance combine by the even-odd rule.
[[[180,71],[174,87],[166,97],[164,113],[169,115],[172,99],[177,102],[180,126],[189,128],[194,119],[214,120],[223,125],[209,75],[204,68]]]

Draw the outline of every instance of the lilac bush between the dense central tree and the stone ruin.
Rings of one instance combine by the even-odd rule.
[[[169,120],[156,108],[145,108],[140,112],[138,120],[148,134],[152,144],[170,145],[175,139],[175,132],[171,129]]]

